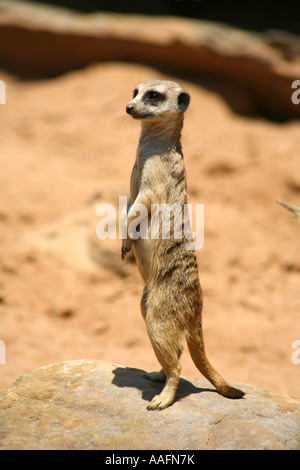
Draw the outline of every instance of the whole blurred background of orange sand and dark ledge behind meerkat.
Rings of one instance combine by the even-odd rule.
[[[157,370],[143,283],[99,204],[129,193],[141,81],[190,94],[189,202],[208,356],[229,381],[299,396],[299,11],[275,1],[0,0],[0,388],[53,362]],[[298,95],[297,95],[298,96]],[[300,98],[300,94],[299,94]],[[3,100],[2,100],[3,102]],[[185,376],[198,376],[188,352]]]

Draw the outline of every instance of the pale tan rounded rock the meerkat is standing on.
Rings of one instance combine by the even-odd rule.
[[[0,449],[300,449],[300,400],[235,384],[241,400],[181,378],[174,404],[146,406],[144,371],[77,360],[20,376],[0,393]],[[180,432],[177,432],[180,429]]]

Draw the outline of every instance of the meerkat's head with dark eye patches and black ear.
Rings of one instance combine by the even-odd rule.
[[[148,80],[135,88],[126,112],[134,119],[157,121],[183,115],[189,103],[190,95],[177,83]]]

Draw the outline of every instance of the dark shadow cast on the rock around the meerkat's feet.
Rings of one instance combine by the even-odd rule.
[[[152,382],[151,380],[147,379],[145,377],[146,372],[144,370],[135,369],[132,367],[117,367],[112,372],[115,375],[112,380],[114,385],[117,387],[133,387],[141,390],[143,400],[150,402],[152,398],[159,394],[163,389],[164,384],[159,382]],[[195,385],[193,385],[188,380],[181,378],[179,380],[174,402],[192,395],[193,393],[201,392],[217,393],[217,391],[214,389],[195,387]]]

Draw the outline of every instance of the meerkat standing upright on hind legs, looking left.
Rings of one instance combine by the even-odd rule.
[[[241,398],[244,392],[231,387],[207,359],[202,332],[202,291],[194,250],[186,249],[187,236],[174,237],[175,218],[169,238],[132,239],[130,224],[143,205],[150,217],[153,204],[187,204],[186,173],[181,147],[184,112],[190,95],[177,83],[149,80],[139,84],[126,112],[141,121],[141,135],[131,174],[130,199],[122,242],[122,259],[133,249],[145,282],[141,311],[156,357],[162,367],[147,378],[165,382],[149,410],[162,410],[174,401],[178,386],[183,339],[199,371],[217,392],[229,398]]]

